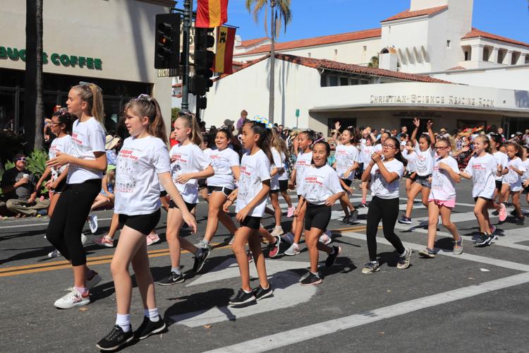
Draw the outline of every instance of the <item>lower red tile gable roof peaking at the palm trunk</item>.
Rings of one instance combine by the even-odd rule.
[[[269,57],[270,57],[270,54],[267,54],[265,56],[262,56],[260,59],[250,61],[244,64],[241,68],[237,68],[236,70],[234,70],[233,73],[236,73],[238,71],[243,70],[244,68],[257,64],[260,61],[268,59]],[[303,56],[296,56],[296,55],[290,55],[290,54],[276,54],[276,58],[280,60],[284,60],[284,61],[289,61],[294,64],[307,66],[310,68],[317,68],[317,69],[326,68],[332,71],[341,71],[341,72],[346,72],[346,73],[358,73],[358,74],[367,75],[367,76],[389,77],[389,78],[396,78],[399,80],[408,80],[408,81],[415,81],[415,82],[451,83],[449,81],[439,80],[437,78],[432,78],[430,76],[425,76],[425,75],[418,75],[415,73],[403,73],[403,72],[398,72],[398,71],[389,71],[389,70],[384,70],[382,68],[370,68],[370,67],[354,65],[354,64],[343,64],[343,63],[339,63],[338,61],[305,58]],[[215,78],[214,81],[220,80],[221,78],[224,78],[226,76],[229,76],[229,75],[226,75],[226,74],[221,75],[218,78]]]

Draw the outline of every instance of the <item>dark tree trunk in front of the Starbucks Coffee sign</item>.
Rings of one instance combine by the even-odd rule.
[[[44,148],[42,123],[42,1],[26,0],[24,139],[27,152]]]

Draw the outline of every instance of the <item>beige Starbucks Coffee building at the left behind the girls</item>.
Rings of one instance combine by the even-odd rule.
[[[83,80],[102,88],[109,131],[116,129],[123,104],[142,93],[157,98],[170,123],[171,78],[157,78],[154,69],[154,23],[157,13],[169,13],[174,4],[173,0],[44,1],[45,116],[56,104],[64,105],[71,86]],[[0,128],[22,130],[25,1],[2,0],[1,5]]]

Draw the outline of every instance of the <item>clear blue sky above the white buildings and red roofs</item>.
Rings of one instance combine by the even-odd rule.
[[[178,1],[180,2],[180,1]],[[292,22],[279,42],[379,28],[379,21],[409,8],[410,0],[291,0]],[[529,43],[528,0],[474,0],[473,27]],[[229,0],[229,24],[243,40],[265,36],[245,0]]]

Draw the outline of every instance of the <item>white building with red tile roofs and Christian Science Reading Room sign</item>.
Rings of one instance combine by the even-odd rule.
[[[327,131],[336,119],[398,128],[422,116],[449,129],[529,128],[529,44],[472,28],[472,13],[473,0],[411,0],[381,28],[277,43],[274,122]],[[241,109],[267,115],[269,42],[246,43],[234,54],[245,64],[207,95],[207,124]],[[386,70],[366,67],[373,56]]]

